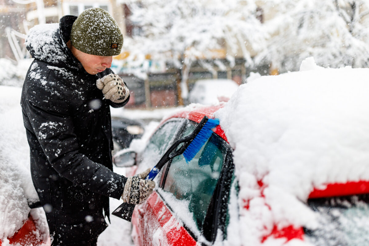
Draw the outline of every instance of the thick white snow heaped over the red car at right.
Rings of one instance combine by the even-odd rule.
[[[241,85],[215,113],[240,187],[241,226],[228,232],[241,228],[243,245],[260,245],[274,226],[314,228],[304,204],[314,187],[369,180],[368,78],[369,68],[321,68],[307,59],[298,72]],[[263,245],[286,241],[271,240]]]

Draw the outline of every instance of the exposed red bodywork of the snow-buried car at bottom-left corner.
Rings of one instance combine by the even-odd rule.
[[[22,228],[15,232],[15,234],[8,238],[10,244],[20,244],[20,245],[33,245],[38,246],[45,242],[37,238],[37,227],[32,219],[32,216],[28,217],[27,221],[23,224]],[[1,246],[1,240],[0,240]]]

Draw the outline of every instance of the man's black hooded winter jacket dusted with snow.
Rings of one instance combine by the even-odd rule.
[[[109,214],[108,197],[119,199],[123,193],[127,179],[112,171],[109,106],[121,107],[129,98],[121,104],[103,99],[96,80],[112,71],[86,73],[66,46],[76,18],[67,15],[59,25],[31,29],[26,45],[34,61],[24,81],[21,106],[32,180],[49,227],[70,224],[50,231],[68,233],[87,221],[90,226],[82,227],[90,231],[81,231],[84,237],[105,229],[101,218],[103,209]]]

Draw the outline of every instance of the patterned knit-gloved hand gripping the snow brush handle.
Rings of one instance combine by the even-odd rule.
[[[124,185],[122,200],[125,203],[140,204],[143,203],[155,188],[155,182],[145,180],[151,169],[129,177]]]

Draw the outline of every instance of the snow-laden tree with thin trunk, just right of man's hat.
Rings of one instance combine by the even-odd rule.
[[[141,27],[141,33],[126,39],[124,48],[136,61],[149,54],[153,60],[165,60],[178,68],[183,98],[193,61],[201,60],[207,66],[206,60],[216,59],[216,52],[223,49],[231,66],[236,56],[251,66],[251,52],[265,47],[252,0],[141,0],[128,4],[130,19]]]

